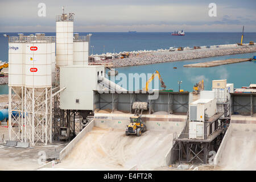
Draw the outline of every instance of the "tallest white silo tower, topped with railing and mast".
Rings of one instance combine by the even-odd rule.
[[[56,16],[56,66],[73,65],[73,13]]]

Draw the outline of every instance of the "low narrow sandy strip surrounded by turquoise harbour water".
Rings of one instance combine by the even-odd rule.
[[[209,61],[204,63],[195,63],[195,64],[186,64],[183,67],[187,68],[208,68],[208,67],[217,67],[219,65],[224,64],[233,64],[233,63],[242,63],[245,61],[250,61],[250,58],[246,59],[226,59],[226,60],[217,60],[217,61]]]

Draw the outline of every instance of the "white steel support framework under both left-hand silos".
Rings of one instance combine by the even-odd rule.
[[[14,94],[12,94],[14,93]],[[9,86],[9,139],[52,142],[52,88]]]

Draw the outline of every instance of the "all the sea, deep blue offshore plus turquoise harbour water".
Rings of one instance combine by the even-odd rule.
[[[79,32],[80,35],[93,34],[90,41],[90,53],[101,54],[106,52],[138,51],[167,49],[169,47],[193,47],[212,46],[219,44],[234,44],[241,42],[241,32],[185,32],[185,36],[172,36],[171,32]],[[0,60],[8,60],[8,41],[3,36],[18,36],[18,33],[0,33]],[[24,33],[30,35],[34,33]],[[46,33],[46,36],[55,36],[55,33]],[[245,32],[243,43],[256,42],[256,32]],[[119,73],[153,73],[156,69],[163,77],[167,88],[177,91],[177,81],[182,80],[181,89],[192,91],[193,85],[200,79],[205,80],[205,89],[211,88],[214,79],[226,78],[233,82],[235,88],[249,86],[250,82],[256,84],[256,64],[252,62],[221,65],[212,68],[183,68],[184,64],[192,64],[204,61],[223,60],[228,58],[252,57],[256,53],[241,55],[228,55],[209,57],[205,59],[176,61],[153,65],[141,65],[136,67],[118,68]],[[177,69],[173,69],[177,67]],[[135,88],[135,90],[138,88]],[[8,92],[7,85],[0,85],[0,94]]]

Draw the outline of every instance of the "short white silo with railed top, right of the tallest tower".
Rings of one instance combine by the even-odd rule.
[[[74,34],[73,65],[88,65],[90,36],[92,34],[86,36],[79,36],[78,33]]]

